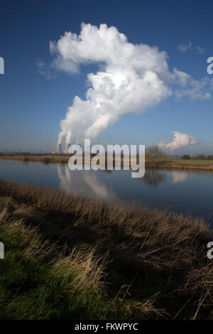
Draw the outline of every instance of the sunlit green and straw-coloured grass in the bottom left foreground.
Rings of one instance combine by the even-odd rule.
[[[0,197],[0,209],[0,239],[6,247],[0,262],[1,320],[162,316],[163,311],[153,306],[155,296],[135,301],[120,291],[107,294],[107,254],[98,257],[89,244],[70,250],[43,239],[32,226],[38,222],[33,219],[35,209],[28,210],[11,197]]]

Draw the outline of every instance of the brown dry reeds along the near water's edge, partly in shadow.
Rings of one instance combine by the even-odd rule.
[[[130,311],[133,317],[140,318],[138,310],[144,311],[145,303],[153,318],[158,313],[165,318],[212,317],[213,262],[207,259],[207,243],[213,235],[202,220],[148,208],[111,208],[96,200],[7,181],[0,181],[0,195],[18,203],[11,205],[14,217],[39,227],[43,238],[58,247],[66,244],[70,254],[76,254],[79,243],[92,247],[87,261],[77,255],[82,263],[77,289],[95,286],[104,272],[109,296],[125,305],[133,298],[129,308],[138,305],[137,311]],[[36,254],[32,246],[26,254],[31,250]],[[102,265],[93,263],[93,258],[98,263],[102,259]],[[69,256],[60,259],[58,273],[69,276],[69,262]]]

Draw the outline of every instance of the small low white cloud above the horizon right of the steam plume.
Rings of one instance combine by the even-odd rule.
[[[190,136],[189,134],[183,134],[179,131],[173,131],[172,134],[173,141],[165,143],[165,141],[162,140],[160,141],[160,143],[158,143],[160,149],[169,149],[172,153],[176,149],[181,149],[185,146],[198,144],[197,139],[195,139],[195,137],[193,136]]]

